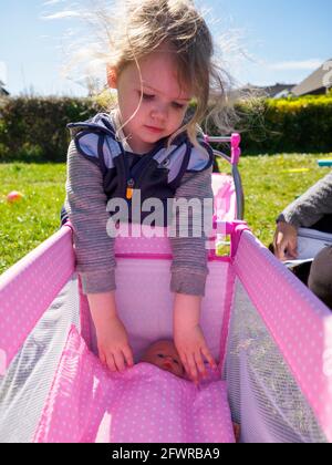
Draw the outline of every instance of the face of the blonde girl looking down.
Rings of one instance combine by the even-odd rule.
[[[149,152],[164,137],[174,134],[183,124],[191,93],[181,89],[170,51],[155,51],[139,61],[143,101],[135,116],[123,131],[134,152]],[[118,106],[122,124],[138,107],[142,91],[135,63],[128,64],[117,76]]]

